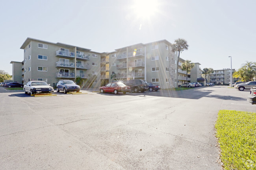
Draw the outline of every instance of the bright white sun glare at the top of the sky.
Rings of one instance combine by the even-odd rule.
[[[138,18],[149,19],[158,12],[158,5],[158,0],[135,0],[132,8]]]

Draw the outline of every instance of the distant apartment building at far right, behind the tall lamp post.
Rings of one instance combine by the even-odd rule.
[[[232,73],[230,72],[230,68],[216,69],[213,70],[213,73],[210,74],[210,80],[213,84],[229,84],[230,83],[230,74],[235,72],[235,69],[232,69]],[[208,75],[206,77],[208,79]],[[237,79],[232,78],[232,82],[236,82]]]

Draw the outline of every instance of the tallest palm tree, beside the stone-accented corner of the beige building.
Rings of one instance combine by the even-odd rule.
[[[174,40],[174,44],[171,45],[172,51],[178,51],[178,60],[177,60],[177,87],[178,87],[178,64],[179,64],[179,58],[180,53],[184,51],[185,49],[188,49],[189,45],[187,44],[187,41],[183,38],[178,38]]]

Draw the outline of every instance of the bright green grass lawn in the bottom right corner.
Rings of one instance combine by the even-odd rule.
[[[215,124],[225,170],[256,170],[256,113],[220,110]]]

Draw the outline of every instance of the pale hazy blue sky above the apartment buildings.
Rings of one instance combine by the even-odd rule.
[[[184,38],[200,68],[256,62],[255,0],[11,0],[0,5],[0,70],[23,60],[27,37],[111,52]]]

